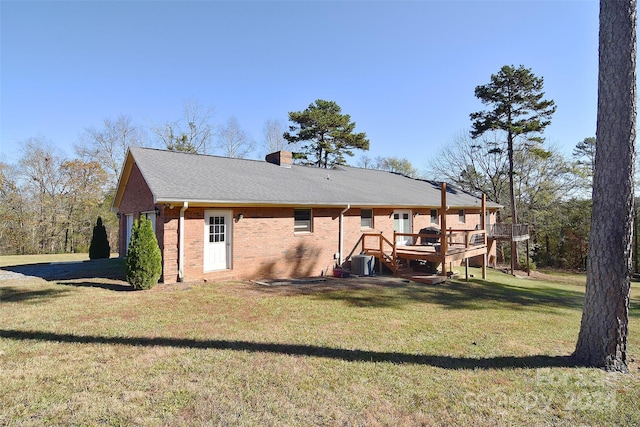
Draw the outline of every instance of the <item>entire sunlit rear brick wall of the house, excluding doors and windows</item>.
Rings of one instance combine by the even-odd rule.
[[[184,279],[246,280],[285,277],[308,277],[331,274],[334,254],[339,251],[339,216],[341,208],[312,209],[313,231],[294,233],[294,208],[252,207],[231,209],[232,265],[229,270],[204,271],[205,210],[189,208],[185,212]],[[223,209],[229,210],[229,209]],[[393,209],[374,209],[373,228],[360,226],[361,210],[352,208],[345,214],[343,257],[346,257],[363,232],[382,233],[393,240]],[[165,208],[164,281],[178,280],[178,218],[180,208]],[[412,216],[413,230],[431,226],[430,210],[417,210]],[[238,220],[242,213],[243,218]],[[456,229],[475,228],[479,211],[469,212],[465,224],[458,222],[458,211],[448,213],[447,225]],[[356,249],[354,253],[359,253]]]

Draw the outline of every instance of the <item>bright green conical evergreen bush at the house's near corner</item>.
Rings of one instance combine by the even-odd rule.
[[[133,223],[127,248],[127,282],[134,289],[151,289],[162,274],[162,255],[151,220],[140,218]]]

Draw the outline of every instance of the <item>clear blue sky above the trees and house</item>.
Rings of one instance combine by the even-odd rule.
[[[126,114],[180,118],[185,100],[234,116],[257,142],[267,119],[332,100],[370,157],[417,168],[470,126],[503,65],[544,77],[547,141],[595,135],[597,1],[0,2],[0,161],[40,136],[68,156],[87,127]],[[351,161],[356,163],[356,159]]]

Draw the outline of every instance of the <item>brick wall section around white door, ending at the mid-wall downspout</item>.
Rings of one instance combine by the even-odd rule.
[[[205,208],[185,212],[184,279],[244,280],[327,274],[338,252],[340,209],[313,209],[313,231],[294,233],[293,208],[233,209],[230,270],[204,271]],[[208,210],[208,209],[207,209]],[[165,281],[178,277],[179,209],[165,209]],[[172,212],[175,211],[175,212]],[[237,219],[242,213],[243,218]],[[175,256],[174,256],[174,250]]]

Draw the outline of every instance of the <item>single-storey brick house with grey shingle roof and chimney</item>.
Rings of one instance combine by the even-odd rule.
[[[473,230],[480,203],[449,187],[447,225]],[[487,224],[498,208],[487,204]],[[327,274],[362,233],[417,233],[442,210],[439,183],[396,173],[148,148],[127,153],[112,209],[121,257],[134,219],[151,219],[165,283]]]

